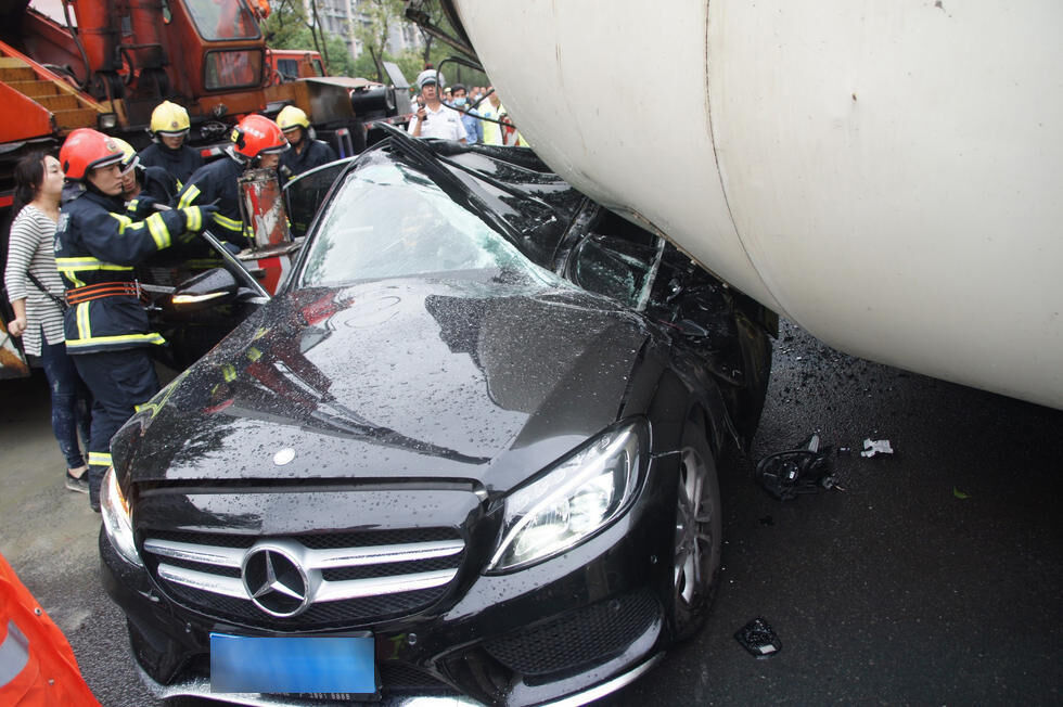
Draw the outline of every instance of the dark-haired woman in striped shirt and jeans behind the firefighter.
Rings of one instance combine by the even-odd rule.
[[[8,331],[22,336],[27,355],[40,357],[52,396],[52,432],[66,458],[66,488],[87,493],[88,467],[77,440],[78,427],[88,429],[88,406],[79,410],[78,400],[86,388],[66,354],[63,309],[59,304],[64,287],[53,249],[63,170],[55,157],[34,153],[18,160],[14,176],[15,216],[4,283],[15,319]]]

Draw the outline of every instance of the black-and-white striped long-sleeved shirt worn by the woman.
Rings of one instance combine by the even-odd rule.
[[[63,297],[65,287],[55,269],[54,237],[55,222],[36,206],[26,205],[11,224],[3,281],[9,300],[26,300],[26,331],[22,344],[30,356],[40,356],[42,329],[49,344],[64,340],[63,310],[26,277],[27,270],[33,272],[50,293]]]

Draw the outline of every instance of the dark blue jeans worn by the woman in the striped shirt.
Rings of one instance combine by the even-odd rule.
[[[91,404],[88,388],[78,376],[73,359],[66,354],[66,344],[49,344],[41,333],[40,355],[52,396],[52,433],[66,459],[67,468],[85,466],[77,438],[80,429],[81,439],[88,447]]]

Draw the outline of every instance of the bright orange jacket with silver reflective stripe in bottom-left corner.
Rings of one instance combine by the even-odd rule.
[[[0,555],[0,705],[99,707],[74,651]]]

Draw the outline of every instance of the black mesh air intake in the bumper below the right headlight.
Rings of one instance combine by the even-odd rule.
[[[484,648],[510,670],[545,676],[619,655],[650,628],[657,615],[657,602],[649,590],[643,590],[494,639]]]

